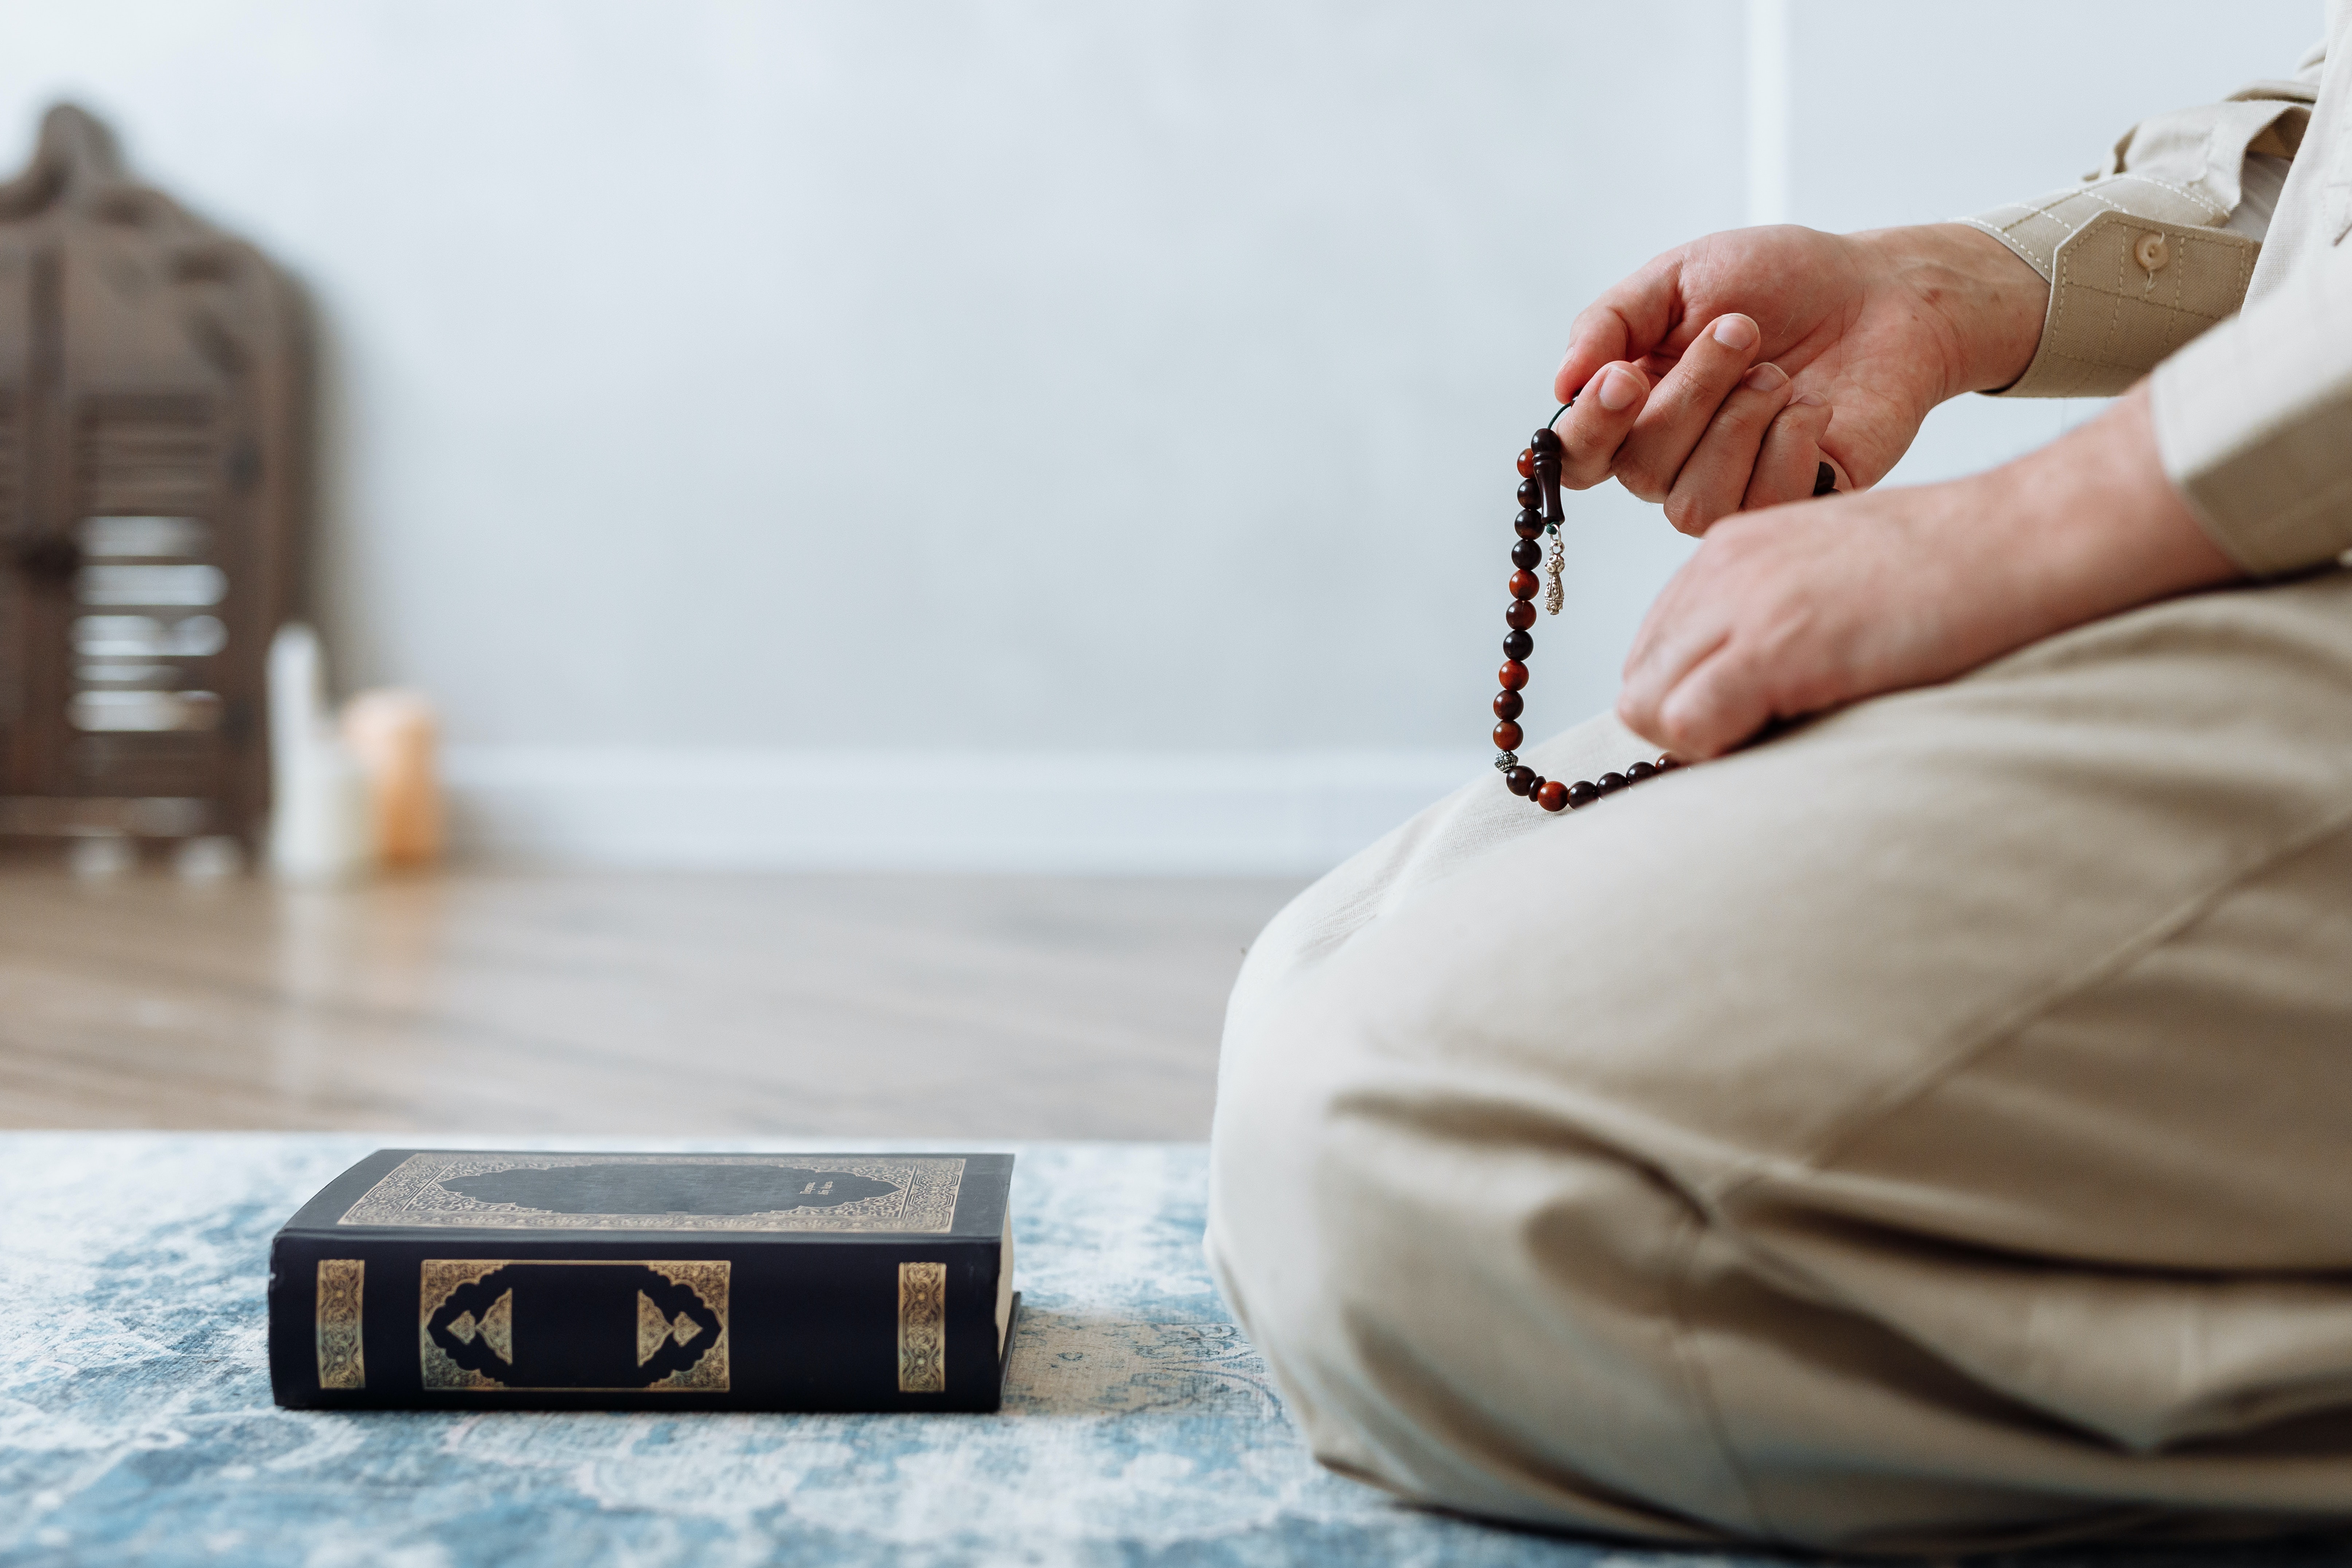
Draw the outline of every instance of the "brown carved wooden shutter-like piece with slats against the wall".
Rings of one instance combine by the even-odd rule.
[[[252,837],[308,496],[294,301],[59,106],[0,186],[0,835]]]

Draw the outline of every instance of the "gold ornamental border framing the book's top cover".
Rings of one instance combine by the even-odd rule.
[[[445,1180],[496,1171],[562,1171],[569,1166],[771,1166],[823,1175],[866,1175],[887,1192],[833,1208],[769,1208],[760,1213],[555,1213],[522,1204],[487,1204],[449,1192]],[[955,1227],[955,1197],[964,1185],[962,1159],[870,1154],[409,1154],[343,1211],[336,1225],[426,1225],[454,1229],[750,1229],[750,1232],[889,1232],[943,1237]]]

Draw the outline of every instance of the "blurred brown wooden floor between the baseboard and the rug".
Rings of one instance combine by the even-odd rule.
[[[1294,891],[0,870],[0,1126],[1204,1138]]]

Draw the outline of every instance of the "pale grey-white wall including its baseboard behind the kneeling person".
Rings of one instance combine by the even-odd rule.
[[[2317,31],[2194,14],[14,0],[0,148],[75,96],[306,280],[320,614],[477,844],[1298,870],[1482,766],[1510,456],[1576,308],[1750,212],[1755,16],[1846,228]],[[2070,418],[1973,402],[1905,477]],[[1538,733],[1684,552],[1576,510]]]

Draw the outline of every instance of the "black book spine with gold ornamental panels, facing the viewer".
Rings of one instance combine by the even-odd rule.
[[[280,1232],[292,1408],[995,1410],[981,1239],[581,1241]]]

